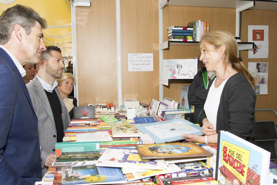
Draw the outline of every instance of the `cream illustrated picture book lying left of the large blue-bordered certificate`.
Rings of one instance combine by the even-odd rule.
[[[137,130],[134,125],[122,125],[122,124],[114,124],[111,125],[111,131],[114,138],[121,137],[139,137],[141,133]]]

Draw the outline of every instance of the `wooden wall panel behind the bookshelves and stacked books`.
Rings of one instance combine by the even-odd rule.
[[[226,30],[235,35],[235,14],[234,8],[166,6],[163,9],[163,41],[168,40],[167,27],[187,26],[187,23],[195,20],[210,22],[210,31]],[[163,59],[186,59],[194,57],[200,57],[199,47],[173,46],[163,50]],[[204,66],[202,65],[201,67]],[[169,87],[164,86],[163,96],[179,102],[182,86],[189,84],[187,82],[174,82]]]

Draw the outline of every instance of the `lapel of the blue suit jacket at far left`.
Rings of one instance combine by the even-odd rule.
[[[6,60],[6,62],[9,64],[10,68],[12,70],[14,70],[14,74],[16,76],[16,78],[18,79],[22,89],[23,89],[23,92],[25,93],[28,101],[29,101],[29,104],[33,110],[33,113],[34,113],[34,117],[36,119],[36,124],[38,124],[38,117],[36,115],[36,112],[34,111],[34,107],[33,107],[33,104],[32,104],[32,101],[31,101],[31,98],[30,98],[30,95],[29,95],[29,92],[28,92],[28,89],[26,87],[26,84],[24,83],[24,80],[20,74],[20,72],[18,71],[18,68],[15,66],[14,64],[14,61],[10,58],[10,56],[6,53],[5,50],[3,50],[2,48],[0,48],[0,55]]]

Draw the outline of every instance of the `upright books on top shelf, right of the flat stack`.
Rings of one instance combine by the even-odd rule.
[[[199,42],[202,35],[210,32],[210,22],[203,22],[201,20],[191,21],[187,26],[193,27],[193,41]]]

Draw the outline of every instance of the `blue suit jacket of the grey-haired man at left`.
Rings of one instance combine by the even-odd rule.
[[[0,48],[0,184],[41,181],[38,118],[26,85]]]

